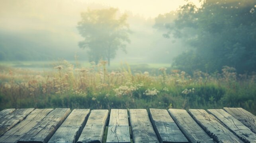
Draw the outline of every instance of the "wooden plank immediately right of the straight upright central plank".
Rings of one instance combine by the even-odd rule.
[[[159,143],[146,109],[130,109],[133,143]]]

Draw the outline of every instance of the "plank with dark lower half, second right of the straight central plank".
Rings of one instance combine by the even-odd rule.
[[[149,117],[160,143],[188,143],[165,109],[149,109]]]

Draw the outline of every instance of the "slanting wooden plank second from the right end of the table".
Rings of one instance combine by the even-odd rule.
[[[222,109],[208,109],[210,114],[220,120],[227,128],[233,131],[236,136],[246,143],[256,143],[256,135],[248,127],[244,126],[236,118]]]

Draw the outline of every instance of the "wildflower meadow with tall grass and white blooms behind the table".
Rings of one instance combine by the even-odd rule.
[[[256,114],[256,73],[238,74],[224,66],[221,72],[189,74],[167,67],[107,67],[106,61],[2,62],[0,109],[242,107]]]

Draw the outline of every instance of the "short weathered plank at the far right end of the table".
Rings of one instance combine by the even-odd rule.
[[[250,128],[252,132],[256,133],[256,116],[244,110],[243,108],[223,108],[226,112],[231,114],[238,121]]]

